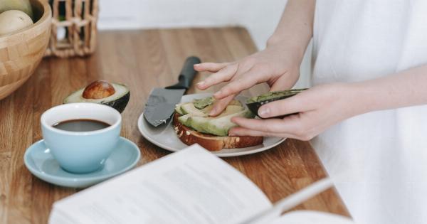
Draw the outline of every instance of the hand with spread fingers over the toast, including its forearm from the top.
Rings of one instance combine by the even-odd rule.
[[[199,82],[199,89],[231,81],[216,92],[211,116],[220,114],[239,92],[260,82],[267,82],[270,91],[290,89],[300,76],[302,57],[312,38],[315,1],[289,0],[278,27],[267,42],[267,48],[233,63],[201,63],[198,71],[214,73]]]

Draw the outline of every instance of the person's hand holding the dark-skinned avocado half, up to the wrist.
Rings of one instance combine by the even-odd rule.
[[[233,117],[239,125],[230,130],[236,136],[273,136],[310,140],[333,124],[363,113],[358,97],[351,85],[334,83],[319,85],[293,97],[263,105],[260,117],[277,117],[293,114],[283,119],[246,119]]]

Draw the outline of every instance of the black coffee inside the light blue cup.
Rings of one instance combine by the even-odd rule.
[[[53,124],[52,127],[70,132],[90,132],[110,127],[110,124],[95,119],[70,119]]]

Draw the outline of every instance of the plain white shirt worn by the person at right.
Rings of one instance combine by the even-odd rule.
[[[427,1],[316,4],[313,85],[427,63]],[[335,183],[356,223],[427,223],[427,106],[347,119],[312,145],[332,178],[344,174]]]

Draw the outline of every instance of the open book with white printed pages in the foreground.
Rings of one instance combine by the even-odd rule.
[[[320,191],[328,187],[323,184]],[[313,192],[298,196],[307,199]],[[307,217],[351,223],[308,211],[279,218],[282,210],[302,202],[298,196],[273,206],[246,176],[193,145],[57,201],[49,223],[305,223]]]

